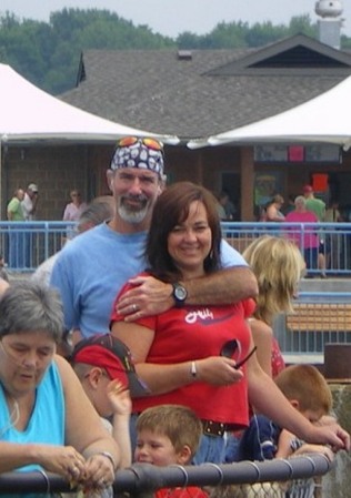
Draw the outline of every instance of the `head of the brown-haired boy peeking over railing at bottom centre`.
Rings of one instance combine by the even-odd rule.
[[[139,415],[137,433],[136,461],[185,465],[198,449],[202,425],[185,406],[160,405]]]

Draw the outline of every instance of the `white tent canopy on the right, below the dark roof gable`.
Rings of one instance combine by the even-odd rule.
[[[351,77],[314,99],[247,126],[203,140],[188,142],[190,149],[229,143],[321,142],[351,146]]]

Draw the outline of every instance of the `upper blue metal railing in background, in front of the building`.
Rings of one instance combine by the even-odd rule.
[[[351,275],[351,223],[248,223],[223,222],[223,235],[239,252],[253,238],[271,234],[289,236],[298,242],[302,253],[310,240],[318,235],[324,256],[327,275]],[[70,222],[0,222],[0,252],[8,268],[32,272],[46,258],[59,251],[67,238],[76,235]],[[318,275],[315,262],[308,262],[309,273]]]

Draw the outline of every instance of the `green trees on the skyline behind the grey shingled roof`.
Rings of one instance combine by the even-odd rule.
[[[185,31],[173,40],[108,10],[66,8],[52,12],[49,23],[19,20],[7,11],[0,17],[0,60],[58,94],[76,85],[80,55],[88,49],[231,49],[261,47],[297,33],[317,38],[317,23],[309,16],[300,16],[289,26],[221,22],[208,34]],[[341,44],[351,48],[351,39],[342,35]]]

